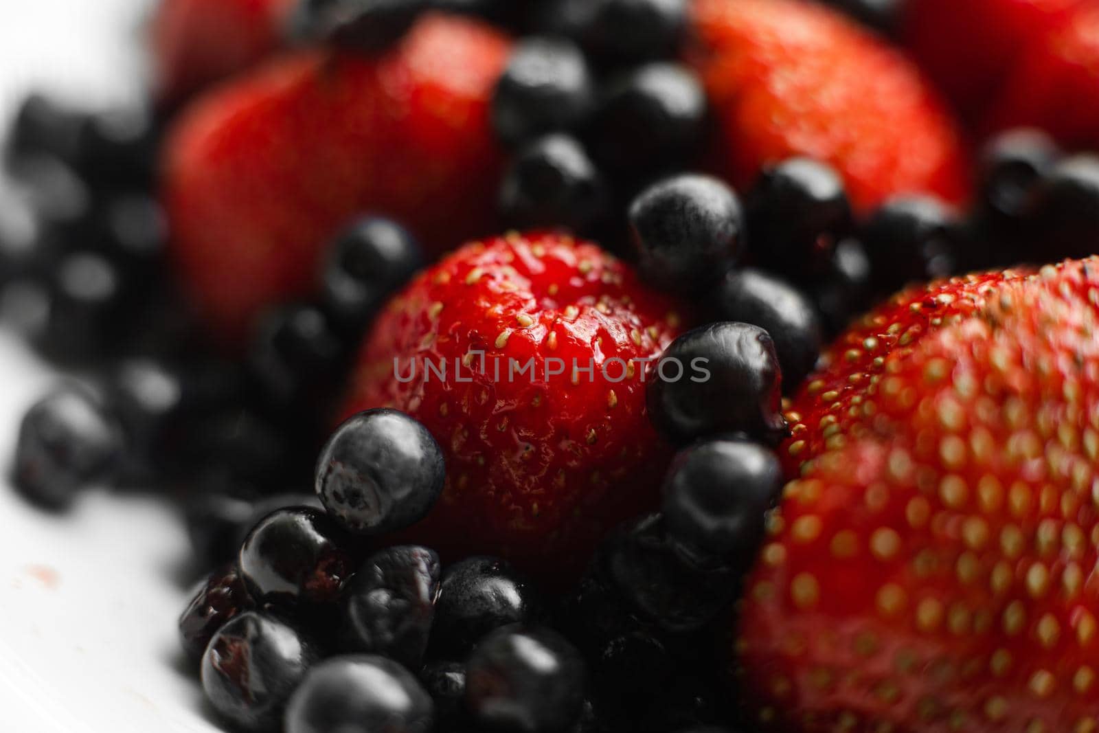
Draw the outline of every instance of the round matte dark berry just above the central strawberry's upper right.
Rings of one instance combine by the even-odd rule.
[[[715,282],[741,255],[741,202],[717,178],[666,178],[633,200],[629,216],[641,274],[663,289],[690,292]]]

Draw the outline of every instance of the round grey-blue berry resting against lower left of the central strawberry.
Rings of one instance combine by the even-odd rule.
[[[317,459],[317,496],[357,534],[396,532],[426,517],[443,491],[443,453],[403,412],[375,409],[349,418]]]

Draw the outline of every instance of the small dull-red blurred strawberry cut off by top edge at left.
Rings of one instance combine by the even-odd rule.
[[[275,52],[296,2],[162,0],[152,23],[157,98],[178,102]]]

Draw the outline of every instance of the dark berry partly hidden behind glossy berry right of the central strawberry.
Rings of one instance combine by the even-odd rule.
[[[714,290],[713,310],[719,320],[751,323],[770,335],[787,391],[797,389],[817,364],[820,318],[793,286],[757,269],[733,270]]]

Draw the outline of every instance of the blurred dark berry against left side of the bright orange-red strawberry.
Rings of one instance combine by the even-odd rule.
[[[681,165],[706,126],[706,93],[684,66],[653,63],[608,82],[588,125],[588,149],[623,177]]]

